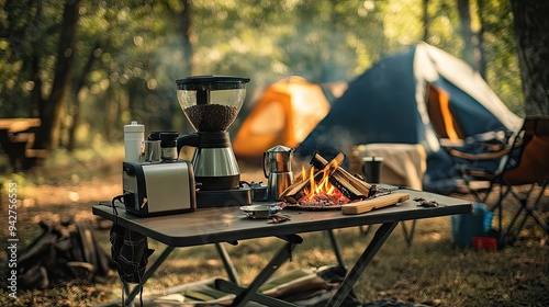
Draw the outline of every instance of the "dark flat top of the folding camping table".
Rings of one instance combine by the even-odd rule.
[[[192,213],[138,217],[126,213],[123,205],[119,204],[119,224],[168,246],[190,247],[467,214],[473,211],[472,203],[464,200],[406,189],[401,189],[397,192],[410,193],[410,200],[359,215],[344,215],[340,209],[283,209],[282,213],[290,215],[291,220],[279,224],[269,224],[270,219],[247,218],[239,206],[198,208]],[[441,205],[437,207],[418,206],[418,203],[414,201],[415,197],[436,201]],[[94,205],[92,212],[94,215],[114,220],[110,202]]]

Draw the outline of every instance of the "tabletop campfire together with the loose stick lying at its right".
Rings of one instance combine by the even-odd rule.
[[[294,178],[294,182],[280,197],[281,205],[300,208],[341,208],[344,214],[361,214],[410,198],[407,193],[392,193],[352,175],[344,168],[345,154],[339,152],[332,161],[320,154],[311,159],[309,168]]]

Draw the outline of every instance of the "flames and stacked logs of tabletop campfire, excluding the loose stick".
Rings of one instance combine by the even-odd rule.
[[[303,167],[294,183],[282,192],[281,198],[300,206],[329,207],[371,196],[372,185],[341,168],[344,161],[343,152],[332,161],[315,154],[310,168]]]

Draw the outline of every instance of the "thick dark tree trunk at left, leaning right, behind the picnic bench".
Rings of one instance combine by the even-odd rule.
[[[63,102],[75,57],[79,3],[80,0],[65,2],[52,92],[47,99],[38,101],[42,126],[36,137],[35,148],[55,149],[58,145]],[[37,90],[41,91],[41,89]]]

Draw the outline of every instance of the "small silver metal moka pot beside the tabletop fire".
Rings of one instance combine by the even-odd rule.
[[[280,194],[293,183],[293,148],[279,145],[264,152],[264,174],[269,179],[267,182],[269,201],[280,201]]]

